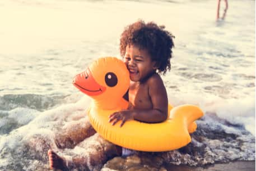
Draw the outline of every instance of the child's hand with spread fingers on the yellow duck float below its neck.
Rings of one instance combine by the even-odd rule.
[[[133,113],[129,110],[117,111],[109,116],[109,123],[115,125],[119,120],[122,120],[120,127],[123,126],[125,121],[134,120]]]

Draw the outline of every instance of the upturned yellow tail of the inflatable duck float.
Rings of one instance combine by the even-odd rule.
[[[196,120],[203,116],[203,111],[196,105],[180,105],[170,111],[170,118],[184,121],[189,133],[197,129]]]

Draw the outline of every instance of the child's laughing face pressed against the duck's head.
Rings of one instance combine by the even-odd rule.
[[[151,60],[147,50],[139,50],[137,46],[127,46],[124,55],[124,63],[130,74],[130,80],[142,81],[148,75],[155,72],[156,62]]]

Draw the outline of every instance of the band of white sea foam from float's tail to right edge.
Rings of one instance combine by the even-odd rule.
[[[198,96],[198,94],[171,94],[169,102],[174,106],[181,104],[194,104],[200,106],[204,113],[216,113],[220,118],[232,124],[242,124],[255,135],[255,98],[222,99],[215,95]]]

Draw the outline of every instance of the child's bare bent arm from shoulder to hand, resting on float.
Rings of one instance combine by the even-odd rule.
[[[151,97],[152,109],[134,109],[118,111],[110,115],[112,125],[122,120],[122,126],[127,120],[139,120],[147,123],[159,123],[167,119],[167,92],[159,75],[148,80],[148,94]]]

